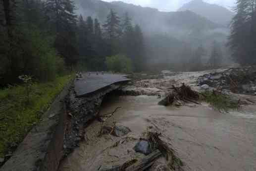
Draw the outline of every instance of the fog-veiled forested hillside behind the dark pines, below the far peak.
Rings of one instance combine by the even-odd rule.
[[[132,22],[139,24],[144,33],[147,58],[145,65],[148,70],[153,68],[158,70],[163,68],[204,69],[201,64],[201,67],[191,67],[189,64],[195,61],[193,60],[194,52],[202,47],[205,52],[197,61],[210,66],[209,58],[214,41],[220,45],[220,50],[225,54],[222,61],[229,62],[230,55],[225,46],[229,29],[192,11],[160,12],[155,8],[141,7],[121,1],[76,0],[76,3],[80,6],[78,13],[99,18],[102,23],[110,9],[113,9],[120,17],[128,12]],[[180,67],[184,65],[187,67]]]

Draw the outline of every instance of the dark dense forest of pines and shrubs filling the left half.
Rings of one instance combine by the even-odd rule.
[[[77,16],[72,0],[1,2],[1,85],[23,74],[49,81],[72,70],[143,68],[142,30],[128,13],[120,18],[111,10],[101,25],[97,18]]]

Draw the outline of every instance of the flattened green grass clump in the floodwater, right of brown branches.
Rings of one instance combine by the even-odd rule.
[[[209,103],[214,109],[222,112],[239,109],[239,102],[235,102],[228,95],[217,93],[215,91],[205,91],[201,93],[201,99]]]

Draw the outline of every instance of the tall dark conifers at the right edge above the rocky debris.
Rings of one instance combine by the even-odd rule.
[[[256,0],[237,0],[228,46],[242,65],[256,63]]]

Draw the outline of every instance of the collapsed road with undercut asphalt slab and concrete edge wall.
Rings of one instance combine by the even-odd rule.
[[[0,171],[57,171],[97,118],[104,96],[129,81],[121,74],[84,75],[64,88]]]

